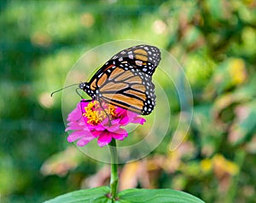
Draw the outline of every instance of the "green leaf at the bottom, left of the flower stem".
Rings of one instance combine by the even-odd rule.
[[[44,201],[45,203],[79,203],[79,202],[93,202],[93,203],[111,203],[112,201],[107,197],[110,188],[107,186],[99,188],[81,189],[61,196],[55,199]]]

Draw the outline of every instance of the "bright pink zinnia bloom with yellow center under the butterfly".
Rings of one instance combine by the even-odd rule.
[[[111,104],[82,100],[68,114],[67,121],[66,131],[72,131],[67,136],[68,142],[78,141],[77,145],[83,147],[97,138],[98,145],[103,147],[111,142],[112,139],[124,140],[128,136],[127,131],[121,126],[130,123],[143,125],[146,119],[139,117],[137,113]]]

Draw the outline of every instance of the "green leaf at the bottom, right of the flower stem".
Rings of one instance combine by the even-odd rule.
[[[131,188],[123,190],[118,195],[117,203],[203,203],[204,201],[197,197],[181,191],[172,189],[138,189]]]

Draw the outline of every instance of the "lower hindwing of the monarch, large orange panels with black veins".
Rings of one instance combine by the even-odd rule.
[[[132,112],[148,115],[154,109],[154,84],[151,77],[125,63],[115,63],[99,86],[99,101],[111,103]]]

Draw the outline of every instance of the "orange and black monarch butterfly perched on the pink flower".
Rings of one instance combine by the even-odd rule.
[[[147,44],[121,50],[79,88],[100,103],[148,115],[156,99],[151,77],[160,59],[160,49]]]

